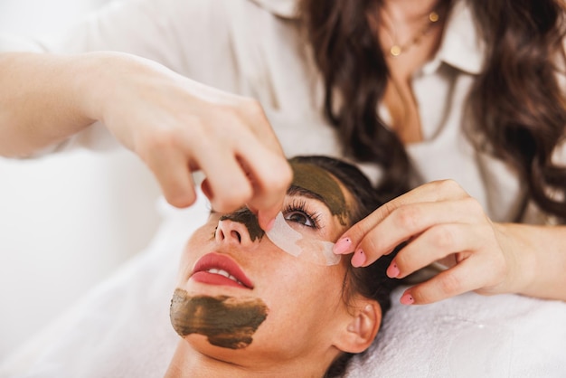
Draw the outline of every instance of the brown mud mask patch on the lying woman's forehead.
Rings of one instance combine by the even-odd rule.
[[[290,192],[293,192],[293,187],[297,187],[314,194],[313,197],[324,202],[330,212],[337,215],[340,222],[345,224],[348,218],[346,200],[335,176],[317,165],[293,161],[290,165],[293,169],[293,184]],[[300,192],[305,194],[304,191]]]

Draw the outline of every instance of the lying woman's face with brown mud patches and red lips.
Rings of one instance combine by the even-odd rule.
[[[322,168],[292,166],[295,179],[282,209],[288,224],[305,238],[335,241],[349,223],[350,194]],[[280,250],[246,209],[212,209],[184,251],[173,326],[197,351],[234,363],[337,353],[330,351],[347,314],[345,266]]]

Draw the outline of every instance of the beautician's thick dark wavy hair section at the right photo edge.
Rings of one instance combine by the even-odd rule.
[[[518,170],[539,207],[563,221],[566,200],[552,198],[549,189],[563,194],[566,188],[566,169],[552,163],[566,130],[566,102],[556,78],[564,73],[556,64],[564,64],[566,9],[553,0],[470,4],[490,46],[470,96],[475,126],[491,152]]]

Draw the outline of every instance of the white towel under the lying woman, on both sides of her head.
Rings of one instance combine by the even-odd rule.
[[[178,340],[168,314],[178,259],[208,210],[203,199],[183,211],[162,207],[147,249],[6,360],[0,377],[164,375]],[[407,307],[401,292],[346,377],[566,377],[565,303],[470,293]]]

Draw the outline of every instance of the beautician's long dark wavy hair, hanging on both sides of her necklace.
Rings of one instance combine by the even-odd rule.
[[[444,1],[449,8],[453,0]],[[566,131],[566,103],[557,80],[564,68],[564,5],[561,0],[462,1],[488,46],[485,69],[467,102],[471,130],[480,136],[471,140],[513,166],[543,211],[566,219],[566,201],[555,195],[565,192],[566,169],[552,163]],[[300,14],[325,83],[325,116],[349,156],[382,165],[377,189],[391,198],[410,189],[410,161],[377,114],[389,70],[369,19],[381,5],[382,0],[301,0]]]

